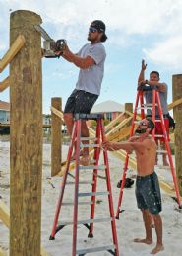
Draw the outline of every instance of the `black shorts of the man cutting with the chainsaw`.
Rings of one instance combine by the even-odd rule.
[[[66,102],[64,113],[90,114],[98,95],[75,89]]]

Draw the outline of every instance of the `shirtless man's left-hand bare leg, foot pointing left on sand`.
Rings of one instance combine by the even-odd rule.
[[[152,244],[152,226],[151,226],[151,213],[148,209],[142,210],[143,220],[146,230],[146,238],[136,238],[134,242]]]

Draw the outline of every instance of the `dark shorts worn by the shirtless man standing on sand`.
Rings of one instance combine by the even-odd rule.
[[[137,176],[136,198],[139,209],[149,209],[152,214],[161,212],[160,188],[155,172],[145,177]]]

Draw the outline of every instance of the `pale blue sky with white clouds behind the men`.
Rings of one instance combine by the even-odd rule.
[[[0,58],[9,48],[10,14],[30,10],[41,16],[41,26],[54,40],[65,39],[74,53],[88,43],[93,20],[106,25],[107,57],[101,94],[96,103],[107,100],[124,104],[136,100],[141,61],[160,73],[168,84],[172,102],[172,75],[182,73],[182,0],[0,0]],[[50,113],[52,97],[61,97],[63,108],[75,88],[79,68],[63,58],[42,60],[43,113]],[[2,81],[9,67],[0,74]],[[9,89],[0,95],[9,102]]]

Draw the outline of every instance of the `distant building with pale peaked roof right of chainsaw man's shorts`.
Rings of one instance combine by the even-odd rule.
[[[124,105],[115,101],[105,101],[96,104],[91,109],[91,113],[103,113],[105,119],[109,121],[114,120],[117,116],[125,111]]]

